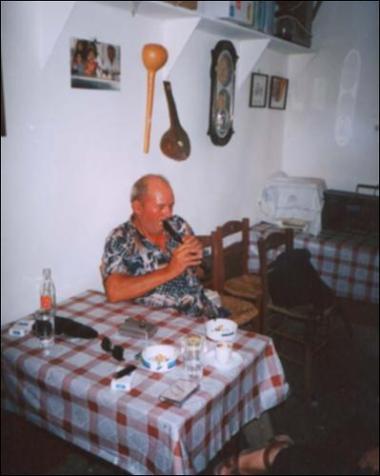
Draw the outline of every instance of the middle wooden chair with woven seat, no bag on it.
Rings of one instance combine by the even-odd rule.
[[[238,240],[225,244],[232,235],[237,235]],[[257,330],[263,332],[261,279],[259,275],[248,272],[248,218],[218,226],[214,236],[217,267],[215,289],[219,293],[254,303],[259,310]]]

